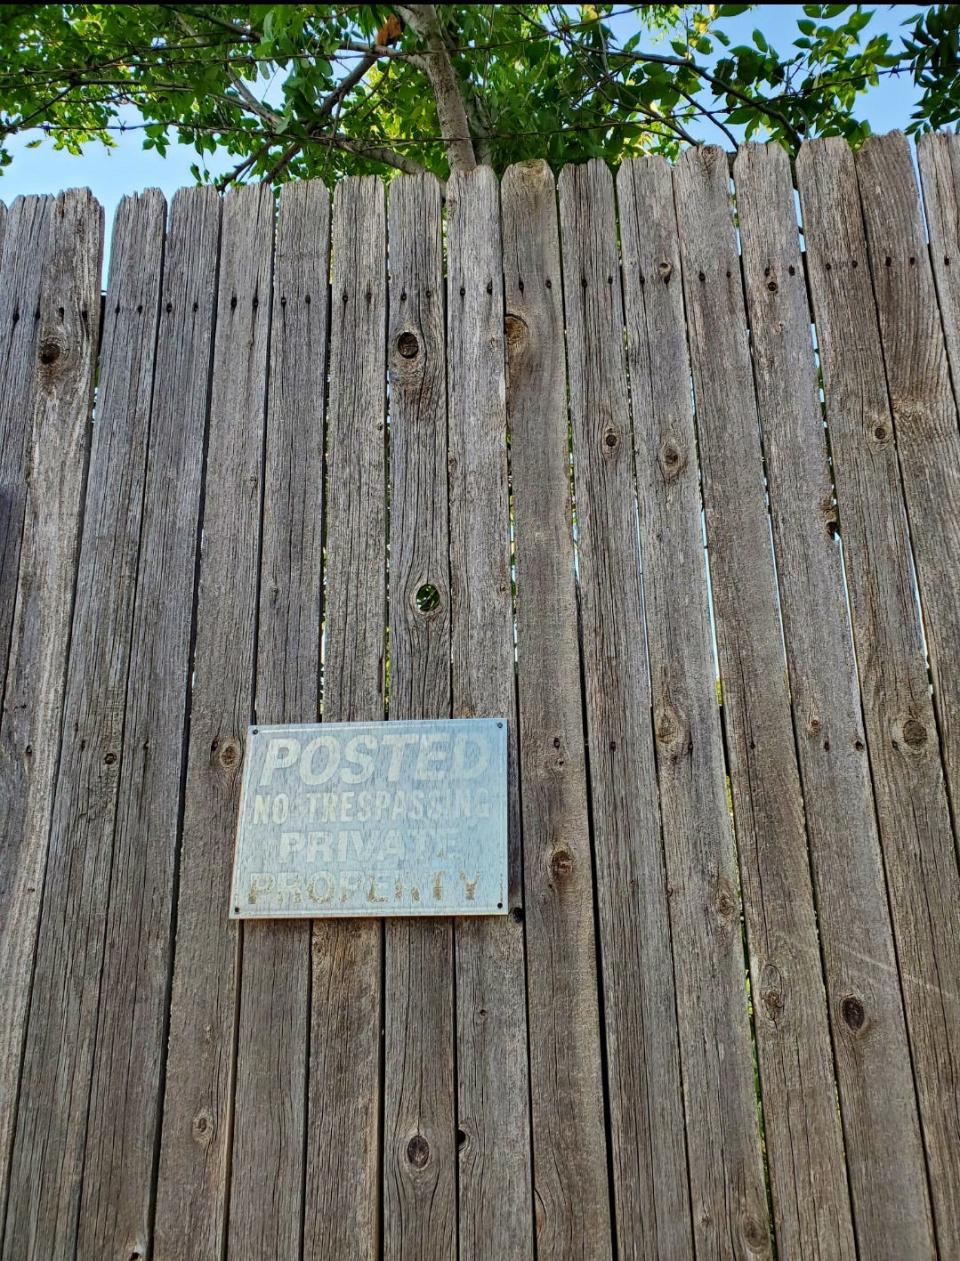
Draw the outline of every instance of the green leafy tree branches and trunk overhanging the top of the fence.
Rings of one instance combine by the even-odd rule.
[[[775,48],[751,5],[3,5],[0,165],[11,136],[79,153],[138,129],[226,150],[222,180],[672,155],[704,137],[869,130],[882,76],[916,83],[911,130],[960,112],[960,6],[902,37],[862,5],[804,5]],[[742,26],[742,23],[735,23]],[[624,32],[627,34],[624,35]]]

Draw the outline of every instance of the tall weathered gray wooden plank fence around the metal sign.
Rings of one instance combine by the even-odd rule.
[[[93,199],[6,211],[4,1261],[960,1255],[920,171],[150,192],[102,309]],[[251,721],[450,714],[510,721],[508,917],[227,919]]]

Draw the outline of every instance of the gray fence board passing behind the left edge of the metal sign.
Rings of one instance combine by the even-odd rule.
[[[315,723],[320,692],[329,195],[280,194],[264,472],[256,721]],[[231,1258],[299,1258],[310,926],[245,923],[230,1179]]]

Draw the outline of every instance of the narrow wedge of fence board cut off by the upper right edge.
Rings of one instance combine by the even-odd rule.
[[[956,397],[960,382],[960,139],[944,131],[920,136],[917,164],[930,233],[930,261]]]

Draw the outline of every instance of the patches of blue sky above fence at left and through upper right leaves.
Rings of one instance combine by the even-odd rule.
[[[918,5],[881,5],[875,16],[864,32],[869,38],[878,30],[897,34],[904,18],[916,13]],[[759,28],[775,47],[787,45],[796,35],[796,20],[802,16],[801,5],[756,5],[751,11],[727,23],[734,42],[748,43],[754,28]],[[613,19],[613,26],[619,39],[626,39],[633,30],[633,19],[621,15]],[[916,93],[913,86],[904,79],[884,78],[879,87],[872,88],[860,106],[872,129],[877,132],[904,127],[913,110]],[[709,125],[708,125],[709,126]],[[117,202],[126,193],[144,188],[160,188],[168,197],[183,187],[192,184],[190,165],[197,161],[197,154],[187,145],[170,145],[165,158],[153,150],[141,148],[139,132],[116,135],[115,149],[90,145],[82,156],[56,153],[47,142],[39,149],[26,149],[26,139],[14,140],[10,145],[14,161],[0,177],[0,198],[8,204],[21,193],[57,193],[63,188],[87,185],[103,204],[107,223],[112,219]],[[703,139],[722,142],[719,135],[703,131]],[[216,177],[236,164],[236,158],[223,154],[207,156],[207,168]]]

